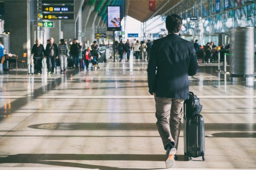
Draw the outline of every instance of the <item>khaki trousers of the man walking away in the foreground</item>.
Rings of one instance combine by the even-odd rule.
[[[162,138],[164,148],[173,142],[178,148],[181,131],[182,105],[184,99],[172,99],[155,97],[156,102],[156,126]]]

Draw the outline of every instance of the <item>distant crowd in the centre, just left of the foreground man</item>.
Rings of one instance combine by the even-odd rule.
[[[127,39],[126,42],[122,40],[115,42],[115,57],[119,59],[119,61],[130,60],[130,52],[132,50],[133,56],[135,60],[148,61],[150,52],[151,52],[152,42],[150,40],[139,41],[134,39],[130,41]]]

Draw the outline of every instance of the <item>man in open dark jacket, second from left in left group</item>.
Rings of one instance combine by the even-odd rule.
[[[54,74],[55,62],[58,58],[58,46],[54,43],[54,39],[50,38],[50,43],[45,47],[45,58],[47,58],[48,74]]]

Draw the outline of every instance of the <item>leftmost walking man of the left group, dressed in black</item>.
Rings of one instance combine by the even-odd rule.
[[[35,74],[42,73],[42,60],[44,57],[44,52],[44,46],[43,44],[40,44],[40,39],[36,39],[36,43],[34,44],[31,50],[31,57],[33,57],[34,60]]]

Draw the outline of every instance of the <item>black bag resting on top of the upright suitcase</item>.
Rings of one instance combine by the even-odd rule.
[[[200,100],[193,92],[189,92],[189,99],[185,100],[186,114],[188,116],[194,116],[201,112],[203,106],[200,104]]]

